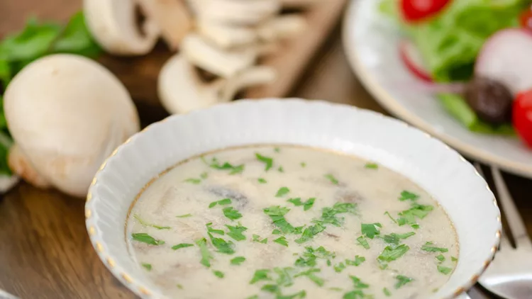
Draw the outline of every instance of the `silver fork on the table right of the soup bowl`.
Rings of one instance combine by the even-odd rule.
[[[484,176],[480,164],[475,163],[477,171]],[[508,222],[506,233],[514,237],[516,248],[512,247],[505,232],[501,236],[499,252],[492,264],[482,274],[479,283],[489,290],[507,299],[532,298],[532,242],[526,233],[526,227],[519,216],[516,205],[502,179],[501,172],[492,166],[492,176],[497,188],[497,200],[504,209]]]

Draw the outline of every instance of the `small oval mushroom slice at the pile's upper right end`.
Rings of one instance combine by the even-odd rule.
[[[257,34],[262,40],[272,41],[291,38],[305,28],[306,20],[303,16],[290,14],[270,19],[257,29]]]

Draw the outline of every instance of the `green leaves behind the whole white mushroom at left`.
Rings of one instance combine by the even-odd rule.
[[[55,53],[96,57],[100,47],[85,26],[82,12],[74,14],[66,26],[40,23],[30,18],[21,32],[0,41],[0,175],[11,175],[7,154],[13,141],[7,128],[2,94],[9,82],[33,60]]]

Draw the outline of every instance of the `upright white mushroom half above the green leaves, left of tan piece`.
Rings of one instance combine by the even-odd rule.
[[[115,55],[143,55],[153,49],[160,29],[147,18],[140,32],[134,0],[84,0],[87,27],[101,47]]]

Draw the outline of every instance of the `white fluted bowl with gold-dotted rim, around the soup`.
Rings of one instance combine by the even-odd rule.
[[[145,128],[118,147],[94,176],[85,215],[100,259],[142,298],[163,298],[128,253],[124,225],[133,198],[157,174],[188,157],[253,144],[321,147],[376,161],[407,176],[445,208],[460,256],[448,283],[431,298],[457,298],[492,260],[501,235],[493,193],[460,154],[433,137],[351,106],[267,99],[238,101]]]

